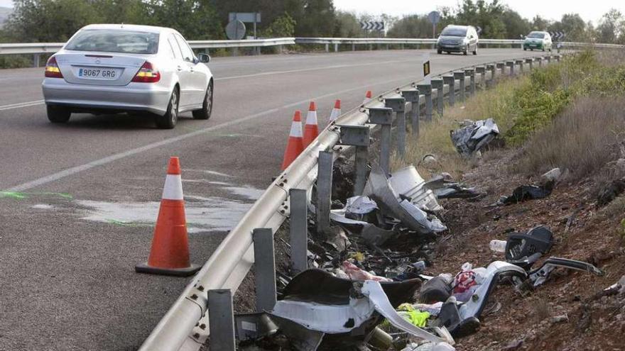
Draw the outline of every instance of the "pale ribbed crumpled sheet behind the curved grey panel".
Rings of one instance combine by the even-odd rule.
[[[413,166],[403,167],[391,174],[388,179],[391,187],[398,193],[411,199],[418,208],[428,208],[429,211],[442,211],[442,206],[430,189],[424,188],[425,180]]]

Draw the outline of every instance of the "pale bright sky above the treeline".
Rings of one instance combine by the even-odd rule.
[[[276,0],[279,1],[279,0]],[[0,6],[12,6],[11,0],[0,0]],[[371,13],[379,15],[387,13],[391,16],[403,16],[415,13],[429,13],[439,6],[455,7],[459,0],[334,0],[339,10]],[[609,9],[617,9],[625,13],[624,0],[501,0],[511,9],[521,13],[525,18],[540,16],[559,20],[564,13],[579,13],[585,21],[597,23]]]

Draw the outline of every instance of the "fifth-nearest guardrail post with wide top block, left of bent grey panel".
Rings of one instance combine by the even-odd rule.
[[[371,129],[367,126],[339,126],[340,145],[356,147],[356,179],[354,179],[354,196],[362,195],[366,184],[366,165],[369,160],[369,135]]]

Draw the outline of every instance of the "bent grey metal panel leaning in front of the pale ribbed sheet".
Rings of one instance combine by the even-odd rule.
[[[384,172],[378,166],[371,169],[363,194],[374,199],[380,210],[387,216],[397,218],[403,225],[417,233],[429,234],[433,232],[433,227],[440,228],[442,225],[442,223],[440,225],[432,223],[427,217],[424,218],[422,216],[424,212],[409,201],[401,204],[398,194],[393,190]]]

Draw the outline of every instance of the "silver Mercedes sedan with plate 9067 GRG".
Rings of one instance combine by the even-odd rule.
[[[48,119],[72,113],[141,113],[158,128],[174,128],[178,115],[208,119],[213,77],[185,38],[170,28],[94,24],[75,33],[45,65],[43,98]]]

